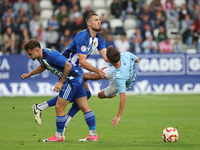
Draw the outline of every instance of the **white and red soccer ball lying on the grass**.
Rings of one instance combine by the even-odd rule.
[[[164,142],[176,142],[178,140],[178,131],[173,127],[167,127],[162,132]]]

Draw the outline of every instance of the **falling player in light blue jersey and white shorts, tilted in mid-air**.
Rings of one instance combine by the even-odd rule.
[[[108,62],[111,63],[113,67],[104,69],[105,79],[112,81],[107,88],[98,93],[98,97],[112,98],[119,93],[119,111],[117,117],[113,119],[113,123],[111,124],[111,126],[114,127],[119,122],[124,111],[126,103],[126,91],[132,87],[136,79],[135,62],[139,62],[139,58],[130,52],[120,53],[113,46],[108,47],[106,56]],[[95,73],[84,73],[83,78],[85,80],[99,80],[100,76]]]

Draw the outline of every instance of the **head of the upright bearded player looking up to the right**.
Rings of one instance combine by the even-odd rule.
[[[101,21],[97,14],[90,13],[86,18],[86,23],[89,29],[92,29],[96,32],[101,31]]]

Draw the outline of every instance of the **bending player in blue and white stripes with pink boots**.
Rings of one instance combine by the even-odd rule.
[[[40,43],[37,40],[32,39],[25,43],[25,50],[28,57],[33,60],[37,59],[40,62],[40,65],[30,73],[22,74],[22,79],[41,73],[45,69],[48,69],[59,77],[59,82],[54,87],[54,91],[59,92],[57,103],[55,105],[57,130],[54,136],[43,141],[62,142],[65,140],[65,136],[63,135],[64,126],[67,120],[65,107],[68,103],[73,101],[76,102],[84,113],[86,123],[89,126],[89,139],[91,141],[98,141],[95,115],[88,105],[83,85],[82,72],[77,70],[77,68],[68,62],[67,59],[58,51],[52,49],[41,49]],[[81,140],[84,141],[85,139]]]

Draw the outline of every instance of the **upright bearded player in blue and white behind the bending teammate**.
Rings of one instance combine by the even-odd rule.
[[[99,53],[102,55],[105,61],[107,61],[106,57],[106,47],[103,41],[103,38],[99,35],[99,31],[101,30],[101,22],[97,14],[90,14],[86,18],[88,28],[84,31],[80,31],[72,43],[63,51],[62,55],[64,55],[67,60],[72,63],[80,72],[82,68],[85,68],[89,71],[97,73],[101,78],[105,77],[105,73],[98,68],[93,67],[89,64],[86,59],[89,55],[95,50],[98,49]],[[84,82],[84,88],[86,90],[87,98],[91,97],[91,93],[89,91],[88,83]],[[51,100],[34,105],[35,110],[40,110],[40,115],[38,115],[36,122],[41,125],[41,113],[44,109],[55,106],[56,98],[52,98]],[[79,111],[79,107],[76,103],[73,103],[71,109],[67,114],[67,122],[66,126],[71,120],[71,118]]]

